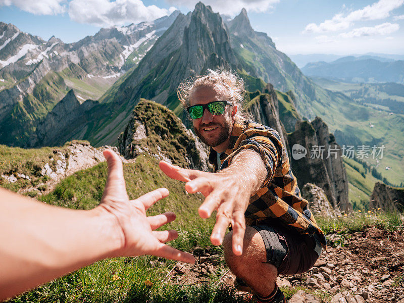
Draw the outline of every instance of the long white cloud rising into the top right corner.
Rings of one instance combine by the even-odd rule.
[[[381,20],[390,16],[390,12],[404,4],[404,0],[379,0],[363,9],[352,11],[346,16],[336,14],[332,19],[325,20],[319,25],[310,23],[306,26],[306,33],[321,33],[338,31],[349,28],[355,21]]]

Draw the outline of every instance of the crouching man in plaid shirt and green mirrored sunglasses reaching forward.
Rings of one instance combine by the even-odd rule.
[[[217,210],[211,241],[223,242],[238,286],[249,286],[258,302],[286,302],[276,277],[309,270],[326,240],[301,198],[278,133],[242,113],[243,89],[242,80],[225,71],[209,70],[182,83],[179,99],[197,136],[211,146],[209,161],[216,173],[163,161],[160,168],[186,182],[189,193],[205,195],[201,218]]]

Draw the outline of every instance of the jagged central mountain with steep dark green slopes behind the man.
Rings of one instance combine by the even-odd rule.
[[[266,82],[276,89],[290,90],[296,107],[315,116],[306,106],[316,98],[315,84],[277,51],[267,34],[251,28],[245,10],[226,25],[218,13],[198,3],[193,12],[179,14],[139,65],[114,83],[98,102],[79,104],[74,93],[69,93],[38,125],[36,138],[27,143],[61,144],[71,138],[87,139],[95,145],[116,143],[140,97],[167,106],[188,123],[176,88],[184,79],[208,68],[236,70],[250,91],[262,90]],[[68,117],[66,108],[70,109]]]

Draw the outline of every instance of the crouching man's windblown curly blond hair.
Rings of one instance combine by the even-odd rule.
[[[236,73],[222,70],[208,69],[204,76],[195,76],[182,82],[177,88],[177,96],[183,108],[189,106],[189,97],[198,87],[204,85],[219,85],[223,87],[228,102],[237,106],[236,120],[240,123],[251,119],[250,115],[242,109],[244,100],[244,81]]]

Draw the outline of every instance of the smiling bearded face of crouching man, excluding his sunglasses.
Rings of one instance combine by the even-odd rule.
[[[226,100],[223,88],[218,85],[204,85],[192,91],[189,105],[204,105],[218,100]],[[205,144],[221,153],[228,146],[236,112],[236,106],[226,106],[222,115],[212,115],[208,109],[205,109],[201,118],[192,119],[196,135]]]

